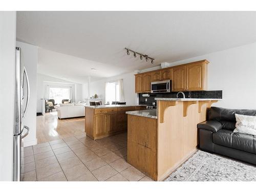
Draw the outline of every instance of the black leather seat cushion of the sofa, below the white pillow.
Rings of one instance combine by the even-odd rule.
[[[212,141],[218,145],[256,154],[256,136],[253,135],[222,129],[212,134]]]

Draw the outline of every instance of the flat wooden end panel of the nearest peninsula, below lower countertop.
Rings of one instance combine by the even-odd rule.
[[[157,119],[128,115],[127,161],[157,180]]]

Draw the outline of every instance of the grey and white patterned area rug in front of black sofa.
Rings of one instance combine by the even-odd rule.
[[[256,181],[256,166],[199,150],[165,181]]]

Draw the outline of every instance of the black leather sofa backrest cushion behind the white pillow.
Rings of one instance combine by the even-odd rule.
[[[208,120],[219,121],[222,124],[222,129],[233,131],[236,128],[234,114],[255,116],[256,110],[233,110],[212,106],[208,112]]]

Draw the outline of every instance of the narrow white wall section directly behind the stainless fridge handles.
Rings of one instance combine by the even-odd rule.
[[[36,80],[37,80],[37,47],[16,41],[16,46],[21,48],[21,61],[26,67],[29,87],[30,99],[28,112],[24,119],[24,125],[29,127],[29,135],[24,138],[24,146],[34,145],[36,140]]]

